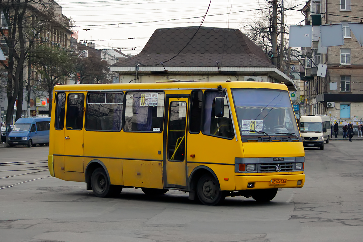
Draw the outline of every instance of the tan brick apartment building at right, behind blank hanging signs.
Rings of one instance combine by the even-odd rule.
[[[302,48],[305,55],[303,82],[307,115],[326,114],[339,126],[363,121],[363,47],[351,32],[348,22],[360,22],[361,0],[309,0],[302,9],[305,24],[313,25],[311,48]],[[318,17],[318,18],[317,18]],[[317,22],[318,20],[318,22]],[[344,45],[327,47],[318,53],[321,24],[342,24]],[[326,64],[325,77],[317,76],[318,64]]]

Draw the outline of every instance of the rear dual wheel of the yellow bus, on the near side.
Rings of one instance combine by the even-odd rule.
[[[117,196],[121,193],[122,187],[111,185],[103,168],[97,168],[91,176],[91,186],[96,197]]]

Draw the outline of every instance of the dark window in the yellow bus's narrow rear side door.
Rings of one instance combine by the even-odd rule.
[[[82,130],[84,105],[85,95],[83,93],[68,94],[66,114],[67,130]]]

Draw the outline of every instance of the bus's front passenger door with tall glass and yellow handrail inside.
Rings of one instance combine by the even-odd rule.
[[[168,124],[166,149],[164,149],[164,186],[186,188],[187,174],[185,163],[185,144],[187,133],[188,98],[170,98],[168,101]]]

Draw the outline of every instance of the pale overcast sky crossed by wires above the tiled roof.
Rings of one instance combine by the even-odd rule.
[[[74,20],[73,30],[79,30],[79,41],[92,41],[97,49],[120,48],[125,54],[138,54],[155,29],[199,26],[209,5],[209,0],[56,1],[62,6],[62,13]],[[258,9],[267,7],[266,2],[212,0],[202,26],[240,29],[256,18],[256,13],[261,11]],[[286,7],[305,4],[305,1],[285,0],[284,4]],[[289,26],[302,20],[299,11],[290,11],[285,23]]]

